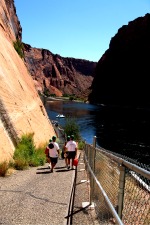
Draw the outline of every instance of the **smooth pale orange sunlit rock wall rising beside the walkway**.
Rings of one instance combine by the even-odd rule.
[[[13,47],[21,26],[13,0],[0,1],[0,162],[9,160],[22,134],[36,146],[55,134],[24,61]]]

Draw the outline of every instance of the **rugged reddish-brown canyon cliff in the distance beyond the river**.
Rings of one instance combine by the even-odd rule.
[[[46,49],[32,48],[27,44],[24,46],[26,65],[39,92],[47,91],[56,96],[87,96],[96,62],[64,58]]]

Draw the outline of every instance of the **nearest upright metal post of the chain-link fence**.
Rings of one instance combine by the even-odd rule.
[[[119,177],[118,215],[120,219],[122,219],[123,198],[125,188],[125,167],[120,165],[119,170],[120,170],[120,177]]]

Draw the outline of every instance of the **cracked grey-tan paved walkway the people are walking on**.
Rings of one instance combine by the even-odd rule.
[[[44,166],[0,177],[0,224],[61,225],[72,187],[74,170],[59,160],[53,173]]]

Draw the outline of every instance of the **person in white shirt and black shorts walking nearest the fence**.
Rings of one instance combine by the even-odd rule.
[[[70,160],[71,160],[71,169],[73,169],[73,160],[77,156],[77,143],[74,141],[74,135],[70,136],[70,141],[66,144],[67,150],[67,160],[68,160],[68,169],[70,169]]]

